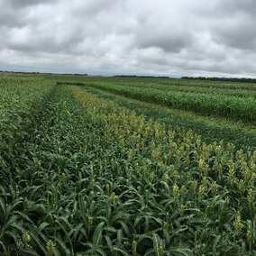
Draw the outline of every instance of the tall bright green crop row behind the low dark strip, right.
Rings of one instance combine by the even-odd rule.
[[[86,85],[145,102],[191,111],[196,114],[214,115],[244,123],[255,123],[256,120],[256,99],[253,97],[238,98],[175,91],[167,92],[153,88],[98,83]]]

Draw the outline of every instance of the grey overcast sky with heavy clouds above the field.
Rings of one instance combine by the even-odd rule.
[[[256,75],[255,0],[0,0],[0,69]]]

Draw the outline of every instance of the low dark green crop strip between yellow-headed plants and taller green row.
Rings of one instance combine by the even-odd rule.
[[[228,142],[233,142],[236,150],[243,149],[244,151],[253,150],[256,147],[255,133],[247,132],[242,129],[242,123],[231,123],[228,120],[220,118],[206,118],[198,116],[191,112],[169,109],[166,107],[156,107],[155,104],[144,103],[142,101],[133,100],[131,98],[118,96],[104,90],[99,90],[93,87],[81,87],[87,92],[114,101],[117,105],[134,110],[136,114],[143,114],[147,118],[153,118],[161,123],[167,123],[172,126],[172,129],[182,128],[191,130],[194,133],[202,136],[202,141],[212,143],[216,140],[223,141],[224,145]],[[244,125],[250,127],[252,125]],[[245,128],[245,129],[246,129]],[[252,130],[251,131],[254,131]]]

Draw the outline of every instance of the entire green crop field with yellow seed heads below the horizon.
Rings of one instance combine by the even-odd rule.
[[[0,73],[0,254],[256,255],[256,84]]]

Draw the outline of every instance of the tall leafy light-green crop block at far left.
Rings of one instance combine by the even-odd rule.
[[[6,169],[12,152],[26,136],[32,116],[49,96],[51,87],[37,80],[0,80],[0,168]]]

